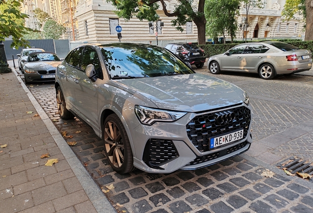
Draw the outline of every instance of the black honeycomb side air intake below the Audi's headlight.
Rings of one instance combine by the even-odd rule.
[[[158,168],[177,157],[179,154],[171,140],[149,139],[145,146],[143,160],[148,166]]]

